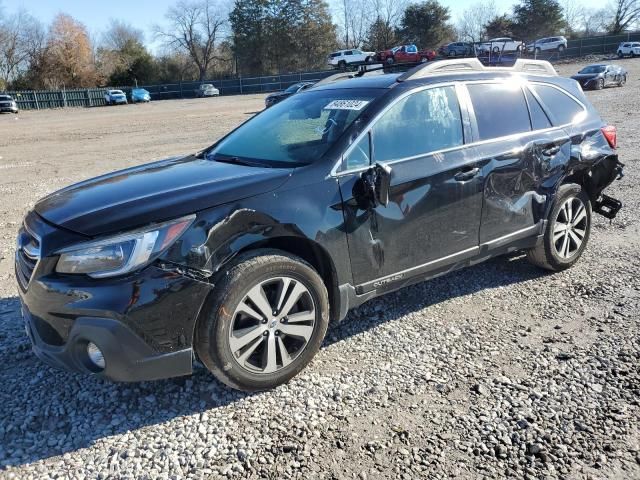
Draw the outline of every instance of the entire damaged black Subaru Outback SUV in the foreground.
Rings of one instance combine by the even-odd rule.
[[[540,61],[330,78],[199,153],[40,200],[16,251],[27,331],[45,362],[111,380],[197,357],[271,388],[370,298],[514,250],[573,265],[592,212],[621,206],[615,147]]]

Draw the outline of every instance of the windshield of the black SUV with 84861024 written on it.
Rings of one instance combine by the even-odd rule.
[[[317,161],[384,90],[308,90],[240,126],[207,153],[218,161],[292,167]]]

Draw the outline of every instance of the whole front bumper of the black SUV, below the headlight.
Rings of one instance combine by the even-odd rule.
[[[153,265],[96,280],[57,274],[55,263],[43,258],[28,285],[19,282],[25,327],[38,358],[113,381],[191,373],[195,322],[209,283]],[[102,351],[104,369],[90,362],[89,342]]]

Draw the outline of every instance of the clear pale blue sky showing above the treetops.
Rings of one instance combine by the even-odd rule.
[[[232,0],[228,1],[232,2]],[[341,0],[328,1],[333,7],[334,13],[337,13]],[[440,1],[451,9],[452,16],[455,19],[457,14],[478,0]],[[118,18],[141,29],[145,33],[146,41],[149,44],[152,44],[153,41],[153,25],[164,22],[164,15],[167,9],[174,3],[176,3],[176,0],[107,0],[104,2],[97,0],[0,0],[0,5],[4,6],[5,13],[13,13],[20,8],[24,8],[45,23],[49,23],[60,12],[68,13],[84,23],[94,38],[99,37],[100,33],[108,25],[110,18]],[[511,6],[514,3],[517,2],[514,0],[496,0],[498,9],[505,12],[511,10]],[[600,0],[582,0],[580,3],[585,7],[602,6]]]

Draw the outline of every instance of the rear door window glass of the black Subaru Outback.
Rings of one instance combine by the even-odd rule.
[[[519,85],[504,83],[467,85],[476,114],[480,140],[531,130],[529,111]]]

